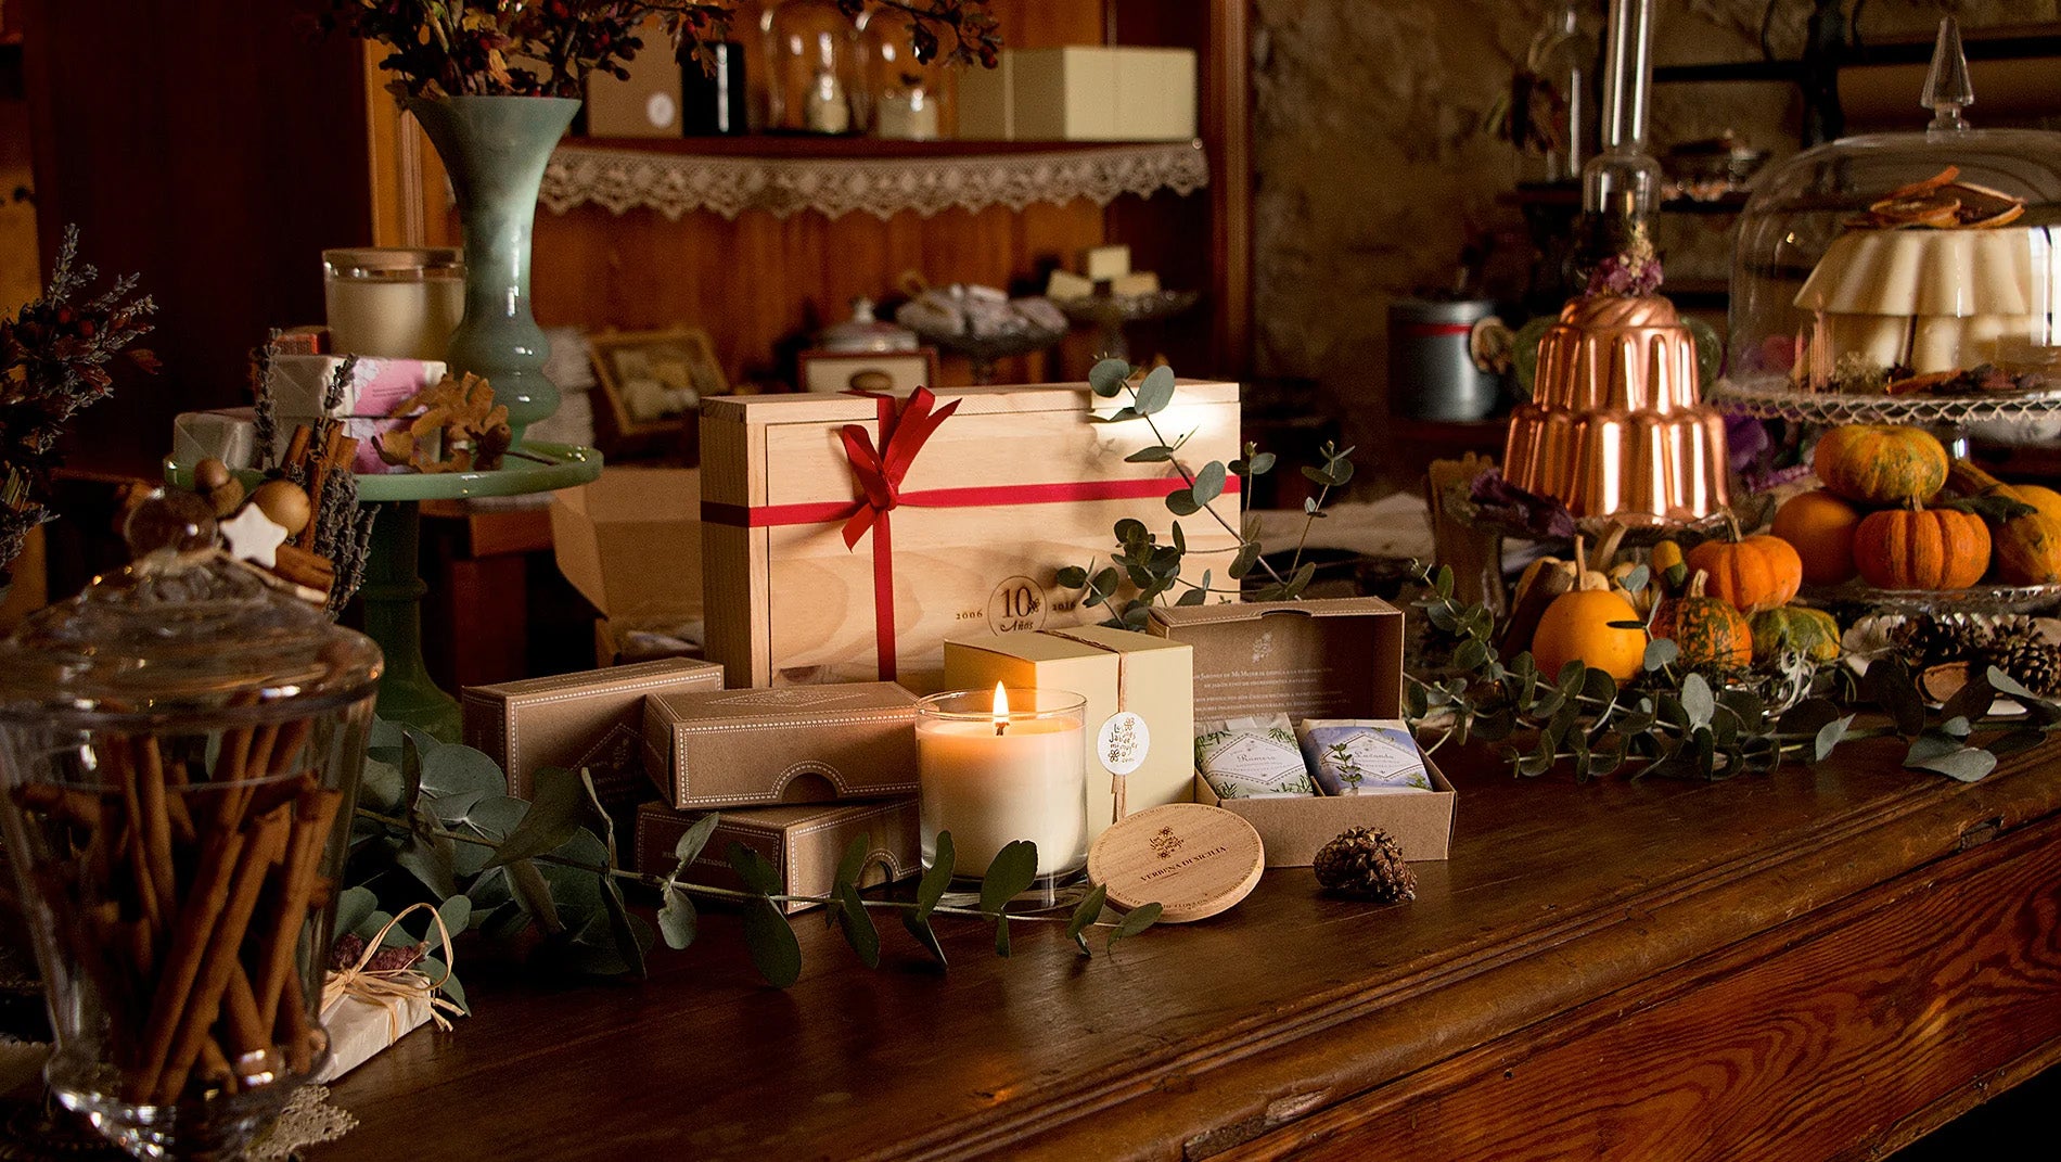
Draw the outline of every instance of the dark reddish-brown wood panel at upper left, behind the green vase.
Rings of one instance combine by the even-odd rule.
[[[66,223],[157,297],[157,379],[120,373],[72,464],[153,474],[171,416],[237,404],[270,326],[322,321],[322,247],[371,231],[354,41],[286,4],[16,0],[43,262]]]

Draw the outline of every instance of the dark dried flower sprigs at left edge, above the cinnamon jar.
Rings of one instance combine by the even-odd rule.
[[[29,529],[52,517],[43,501],[58,437],[113,391],[107,365],[128,348],[136,367],[157,371],[155,354],[130,348],[150,332],[157,305],[148,295],[132,299],[134,274],[80,301],[97,278],[93,264],[78,262],[78,227],[66,227],[43,297],[0,319],[0,585],[12,581],[8,565]]]

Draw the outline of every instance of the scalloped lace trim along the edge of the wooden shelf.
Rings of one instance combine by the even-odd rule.
[[[1022,210],[1076,198],[1107,206],[1123,194],[1193,194],[1208,183],[1202,142],[917,159],[697,157],[565,144],[544,169],[538,200],[554,214],[594,202],[612,214],[649,206],[668,218],[688,210],[725,218],[744,210],[777,218],[866,210],[886,220],[903,210],[930,218],[952,206]]]

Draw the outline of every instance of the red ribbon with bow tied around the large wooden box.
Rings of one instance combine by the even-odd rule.
[[[874,657],[884,682],[894,680],[894,532],[888,513],[903,505],[919,509],[985,509],[995,505],[1053,505],[1066,501],[1146,501],[1167,494],[1169,480],[1080,480],[1068,484],[995,484],[983,488],[919,488],[903,492],[909,466],[932,433],[958,410],[960,400],[936,408],[938,398],[917,387],[897,412],[892,396],[872,396],[880,406],[880,447],[864,424],[845,424],[839,439],[859,484],[857,501],[808,501],[800,505],[701,503],[701,519],[730,527],[785,527],[845,521],[845,548],[857,548],[874,534]],[[1239,478],[1224,480],[1224,494],[1237,494]]]

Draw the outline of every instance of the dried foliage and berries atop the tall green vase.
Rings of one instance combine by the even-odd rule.
[[[851,19],[868,0],[837,0]],[[872,0],[911,16],[917,60],[993,66],[1000,47],[987,0]],[[379,68],[404,97],[583,97],[589,72],[629,76],[637,29],[664,21],[676,49],[709,66],[730,35],[730,0],[328,0],[324,31],[394,49]]]

